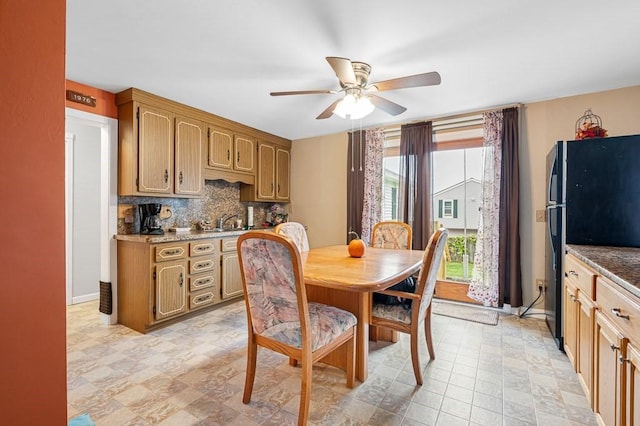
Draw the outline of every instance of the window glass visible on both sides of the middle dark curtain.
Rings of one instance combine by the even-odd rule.
[[[466,286],[473,273],[484,175],[482,116],[434,121],[431,206],[434,228],[449,230],[444,267],[438,277],[447,285]],[[400,129],[385,131],[383,220],[401,220],[398,212]],[[451,294],[466,294],[454,290]],[[449,298],[437,291],[438,297]],[[458,299],[463,300],[464,299]],[[466,300],[468,301],[468,299]]]

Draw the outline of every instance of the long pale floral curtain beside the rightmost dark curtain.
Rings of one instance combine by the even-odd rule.
[[[502,111],[483,115],[484,177],[482,205],[467,295],[485,306],[499,304],[500,175],[502,167]]]

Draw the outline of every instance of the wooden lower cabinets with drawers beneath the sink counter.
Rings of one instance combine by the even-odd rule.
[[[233,244],[221,253],[222,242],[230,240]],[[146,333],[168,320],[242,296],[235,240],[118,240],[118,321]]]

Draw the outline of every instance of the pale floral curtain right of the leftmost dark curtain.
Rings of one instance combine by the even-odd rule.
[[[369,243],[373,225],[382,219],[382,162],[384,132],[371,129],[365,132],[364,198],[362,203],[362,238]]]

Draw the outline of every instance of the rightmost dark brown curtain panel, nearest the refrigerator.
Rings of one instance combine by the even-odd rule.
[[[522,306],[520,265],[520,172],[518,108],[506,108],[502,128],[502,188],[500,191],[500,306]]]

